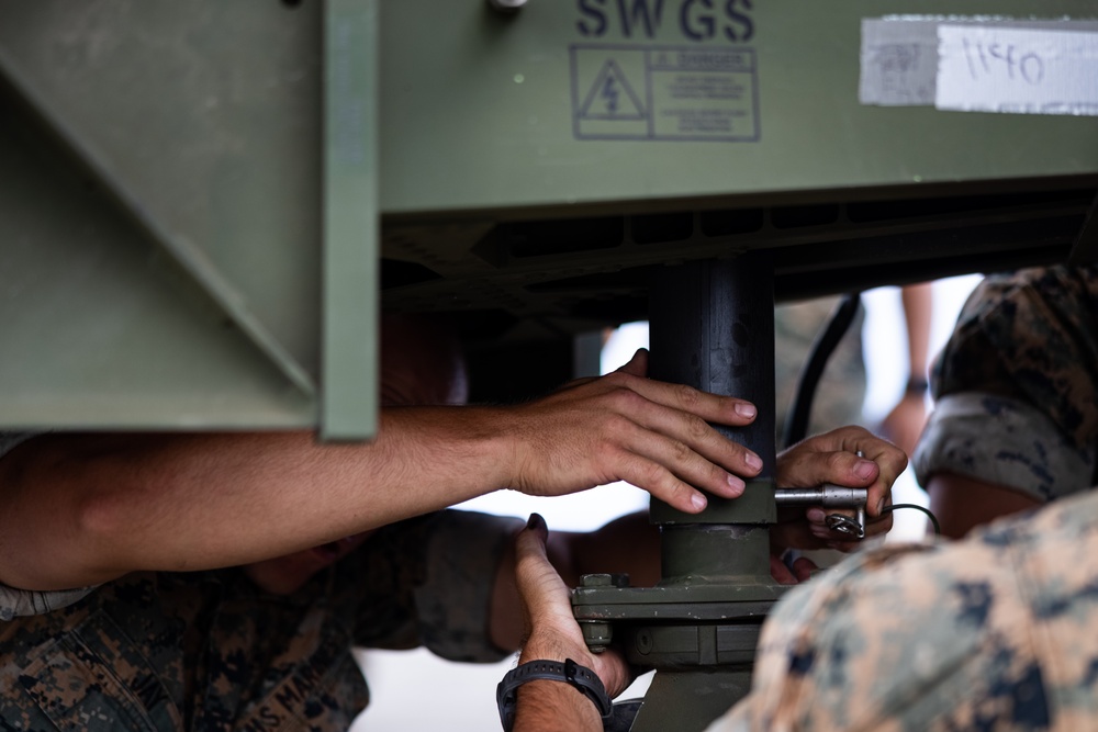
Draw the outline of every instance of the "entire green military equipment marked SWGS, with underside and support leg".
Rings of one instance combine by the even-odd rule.
[[[368,439],[381,308],[446,313],[474,397],[645,317],[654,375],[765,394],[775,299],[1093,260],[1093,3],[889,9],[0,0],[0,429]],[[637,730],[741,694],[777,595],[772,493],[715,509],[653,507],[670,600],[578,593],[691,669]]]

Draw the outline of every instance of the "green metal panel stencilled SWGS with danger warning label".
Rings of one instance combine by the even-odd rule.
[[[382,37],[399,40],[384,43],[382,68],[385,213],[512,209],[516,216],[536,207],[569,215],[591,203],[636,210],[638,202],[714,205],[747,194],[788,201],[806,191],[1098,171],[1094,116],[859,102],[863,19],[994,12],[1095,20],[1089,0],[530,0],[511,15],[485,4],[384,7]],[[710,27],[714,37],[692,37]],[[664,119],[692,103],[665,98],[676,75],[666,66],[703,52],[729,69],[714,79],[742,87],[746,116],[728,134],[672,139]],[[727,60],[733,53],[742,58]],[[661,54],[671,59],[664,67]],[[586,104],[604,92],[607,75],[617,80],[613,114],[605,100]],[[683,69],[677,78],[691,77]],[[648,134],[629,120],[637,108],[656,117],[653,137],[630,139]],[[614,119],[585,128],[598,111]]]

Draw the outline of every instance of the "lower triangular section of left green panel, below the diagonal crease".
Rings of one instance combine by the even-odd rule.
[[[0,428],[305,426],[312,398],[0,102]]]

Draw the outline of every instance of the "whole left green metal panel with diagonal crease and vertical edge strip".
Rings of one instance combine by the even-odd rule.
[[[372,433],[376,114],[325,146],[329,10],[361,27],[326,99],[372,110],[371,0],[0,2],[0,180],[43,181],[0,199],[0,278],[42,278],[5,301],[0,425]]]

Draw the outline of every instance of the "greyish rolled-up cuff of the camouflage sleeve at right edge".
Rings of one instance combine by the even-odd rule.
[[[1080,448],[1026,402],[961,392],[938,402],[911,464],[920,485],[953,473],[1047,503],[1091,484],[1095,444]]]

